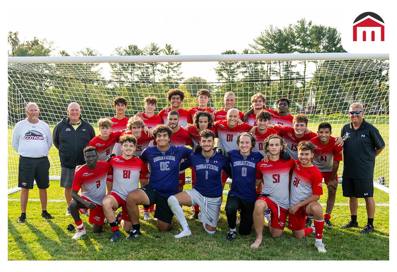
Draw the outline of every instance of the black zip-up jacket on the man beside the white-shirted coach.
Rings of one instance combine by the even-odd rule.
[[[95,137],[93,126],[81,117],[81,124],[77,130],[71,126],[69,118],[64,118],[54,127],[52,143],[59,150],[62,167],[75,168],[85,164],[83,149]]]

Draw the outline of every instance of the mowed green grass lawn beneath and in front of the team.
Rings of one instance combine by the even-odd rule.
[[[48,189],[49,199],[60,199],[63,190],[59,181],[51,181]],[[189,189],[190,184],[185,185]],[[226,185],[225,190],[228,190]],[[374,189],[376,203],[388,204],[389,194]],[[10,194],[9,199],[19,199],[19,192]],[[29,198],[38,199],[37,187],[31,190]],[[389,207],[377,206],[375,213],[375,232],[359,234],[366,223],[365,206],[358,208],[359,228],[341,229],[349,221],[347,206],[335,205],[331,221],[334,229],[325,228],[323,241],[327,253],[318,253],[314,247],[314,235],[301,240],[293,238],[291,231],[285,228],[281,238],[270,238],[268,228],[263,231],[263,242],[258,249],[249,246],[255,240],[255,232],[248,236],[237,234],[236,240],[228,242],[229,230],[224,212],[226,195],[222,204],[221,219],[217,231],[207,234],[198,221],[189,221],[192,235],[176,240],[173,236],[181,230],[179,222],[173,219],[174,226],[169,232],[159,232],[156,221],[143,221],[143,235],[136,240],[125,240],[126,233],[117,243],[110,242],[109,224],[103,232],[94,234],[88,217],[82,215],[87,235],[81,240],[72,240],[73,232],[66,230],[73,223],[65,216],[66,202],[48,202],[48,211],[55,217],[46,220],[40,216],[40,202],[29,201],[27,221],[15,223],[20,215],[19,201],[8,202],[8,259],[9,260],[389,260]],[[326,187],[321,203],[326,202]],[[336,203],[346,204],[341,186],[338,187]],[[360,200],[360,203],[364,203]],[[189,207],[183,207],[185,216],[190,217]],[[325,212],[325,207],[324,207]],[[152,215],[151,215],[152,216]],[[238,226],[237,226],[238,228]]]

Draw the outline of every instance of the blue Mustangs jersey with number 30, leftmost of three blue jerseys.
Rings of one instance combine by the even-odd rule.
[[[158,150],[157,146],[146,147],[139,157],[150,164],[149,184],[153,190],[165,197],[177,194],[179,164],[192,152],[190,148],[176,145],[170,145],[166,151]]]

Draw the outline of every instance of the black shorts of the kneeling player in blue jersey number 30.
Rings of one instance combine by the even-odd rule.
[[[146,185],[140,188],[143,190],[149,198],[149,205],[156,204],[156,211],[154,212],[154,218],[157,218],[165,223],[171,224],[173,212],[168,206],[168,197],[162,196],[155,190],[153,190],[152,186]]]

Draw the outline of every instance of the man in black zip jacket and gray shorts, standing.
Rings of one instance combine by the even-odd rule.
[[[64,188],[67,203],[66,215],[70,215],[74,170],[76,165],[85,164],[83,149],[95,137],[95,131],[89,122],[80,117],[81,109],[76,102],[70,103],[66,112],[68,117],[56,124],[52,132],[52,141],[59,150],[61,187]]]

